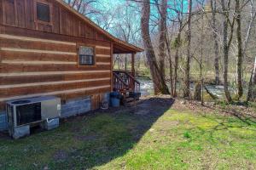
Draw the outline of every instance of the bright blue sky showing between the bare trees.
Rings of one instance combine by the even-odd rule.
[[[152,3],[154,3],[153,0],[151,1]],[[96,3],[92,3],[92,6],[90,8],[92,10],[95,9],[96,11],[100,11],[101,14],[92,13],[86,16],[89,17],[91,20],[95,21],[96,24],[98,24],[99,26],[102,26],[103,29],[106,28],[105,26],[108,26],[108,29],[106,29],[106,31],[112,33],[117,37],[122,35],[124,30],[125,32],[127,31],[127,33],[130,32],[125,27],[127,25],[127,20],[130,20],[131,25],[130,24],[129,25],[132,27],[132,30],[134,32],[134,33],[133,32],[132,33],[130,32],[130,33],[132,35],[138,35],[140,34],[140,31],[137,31],[138,30],[137,28],[140,26],[140,16],[141,16],[140,6],[141,5],[138,3],[129,2],[129,4],[132,4],[132,5],[127,6],[128,4],[127,2],[129,1],[127,0],[96,1]],[[184,0],[183,2],[186,3],[186,0]],[[169,1],[169,5],[172,6],[173,8],[174,6],[173,1]],[[187,5],[184,4],[184,6],[186,8]],[[155,5],[151,5],[151,13],[152,13],[151,19],[154,20],[154,22],[152,22],[152,25],[150,27],[151,27],[151,33],[153,33],[158,31],[158,26],[156,24],[158,22],[157,20],[159,17],[159,13]],[[175,17],[176,13],[169,9],[168,14],[170,17],[173,17],[173,16]],[[114,18],[112,16],[114,16]],[[109,20],[110,22],[106,22],[105,20]],[[122,36],[119,38],[124,39],[122,38]]]

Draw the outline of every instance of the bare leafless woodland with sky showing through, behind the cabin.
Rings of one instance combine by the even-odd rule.
[[[150,73],[154,94],[202,100],[201,89],[213,83],[224,85],[228,102],[255,100],[254,0],[66,2],[115,37],[145,49],[137,54],[136,68],[138,74]],[[131,61],[118,55],[114,63],[124,69]]]

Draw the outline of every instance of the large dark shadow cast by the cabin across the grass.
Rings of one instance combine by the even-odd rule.
[[[0,145],[5,150],[0,150],[0,167],[90,169],[102,166],[131,150],[173,103],[174,99],[146,99],[131,107],[93,111],[63,120],[61,127],[25,139],[2,138]]]

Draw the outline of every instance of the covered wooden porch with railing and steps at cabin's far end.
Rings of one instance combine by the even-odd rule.
[[[141,83],[137,81],[135,74],[135,56],[137,53],[143,52],[142,48],[137,48],[131,44],[124,43],[113,43],[113,60],[114,56],[117,54],[125,54],[125,66],[120,69],[119,67],[114,67],[113,63],[113,91],[122,94],[125,102],[129,102],[133,99],[138,99],[141,95],[140,86]],[[128,59],[130,62],[130,67],[128,66]],[[127,60],[126,60],[127,59]]]

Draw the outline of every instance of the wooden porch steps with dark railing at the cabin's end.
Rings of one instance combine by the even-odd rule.
[[[128,71],[113,71],[113,91],[123,95],[123,103],[140,98],[141,83]]]

